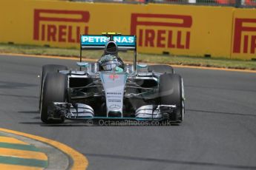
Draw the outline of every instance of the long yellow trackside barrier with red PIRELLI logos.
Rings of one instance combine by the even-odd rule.
[[[255,20],[234,7],[2,0],[0,42],[79,48],[80,34],[119,32],[138,52],[251,59]]]

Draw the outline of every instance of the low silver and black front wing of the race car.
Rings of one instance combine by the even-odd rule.
[[[128,119],[128,120],[168,120],[174,114],[177,106],[175,105],[145,105],[136,110],[131,117],[97,117],[94,115],[93,108],[83,103],[59,103],[53,102],[48,106],[48,118],[59,119],[67,118],[71,120],[92,120],[92,119]]]

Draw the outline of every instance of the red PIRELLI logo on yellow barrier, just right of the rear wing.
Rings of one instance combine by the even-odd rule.
[[[191,26],[191,16],[131,13],[131,35],[137,35],[139,47],[188,50]]]

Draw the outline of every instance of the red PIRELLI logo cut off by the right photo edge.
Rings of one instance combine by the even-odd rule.
[[[234,18],[233,53],[255,54],[256,18]]]

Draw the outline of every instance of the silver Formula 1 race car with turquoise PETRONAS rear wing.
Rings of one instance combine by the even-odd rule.
[[[169,65],[137,63],[135,35],[81,35],[80,69],[42,67],[39,109],[44,123],[65,119],[170,120],[185,112],[183,78]],[[82,62],[82,50],[103,50],[99,61]],[[133,50],[133,64],[119,51]]]

